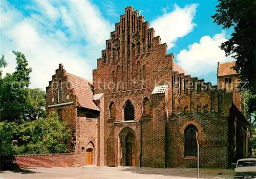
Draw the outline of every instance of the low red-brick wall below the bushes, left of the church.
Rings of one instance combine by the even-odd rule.
[[[74,154],[18,155],[14,161],[20,167],[72,167],[76,166]]]

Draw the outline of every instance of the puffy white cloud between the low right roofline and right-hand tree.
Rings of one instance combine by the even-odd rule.
[[[233,61],[230,56],[225,57],[224,50],[219,46],[227,39],[226,32],[215,34],[214,37],[203,36],[199,43],[193,43],[177,55],[178,64],[192,75],[206,75],[217,70],[218,62]]]

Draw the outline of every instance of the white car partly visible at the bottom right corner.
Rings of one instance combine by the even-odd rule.
[[[234,169],[234,178],[256,178],[256,158],[239,159]]]

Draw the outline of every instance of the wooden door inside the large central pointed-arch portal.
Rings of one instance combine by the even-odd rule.
[[[126,166],[135,166],[135,138],[129,133],[125,138],[126,145]]]

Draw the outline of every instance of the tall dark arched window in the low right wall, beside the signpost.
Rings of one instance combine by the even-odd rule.
[[[197,127],[193,124],[189,124],[184,130],[184,156],[186,157],[197,156],[197,132]]]

